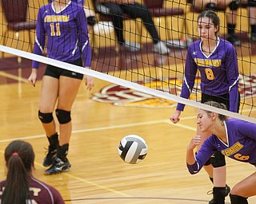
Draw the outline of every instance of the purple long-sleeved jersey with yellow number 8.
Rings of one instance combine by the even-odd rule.
[[[206,56],[202,52],[202,41],[195,41],[188,47],[186,54],[185,79],[181,97],[188,99],[194,87],[197,72],[201,76],[201,91],[210,96],[230,95],[230,111],[238,110],[238,60],[234,46],[218,37],[214,52]],[[185,105],[178,104],[177,110],[183,111]]]

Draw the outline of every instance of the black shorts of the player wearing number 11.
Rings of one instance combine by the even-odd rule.
[[[76,61],[70,62],[70,64],[78,65],[78,66],[82,67],[82,59],[80,58]],[[75,73],[70,70],[58,68],[58,67],[55,67],[52,65],[46,66],[46,72],[44,75],[54,77],[57,79],[59,79],[60,76],[71,77],[71,78],[75,78],[75,79],[79,79],[79,80],[82,80],[82,78],[83,78],[82,73]]]

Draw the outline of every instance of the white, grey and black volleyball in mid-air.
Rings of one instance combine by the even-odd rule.
[[[118,146],[118,155],[126,163],[140,163],[147,154],[146,141],[138,135],[126,135]]]

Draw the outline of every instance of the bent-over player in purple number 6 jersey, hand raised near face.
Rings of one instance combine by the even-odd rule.
[[[215,108],[225,108],[224,104],[214,101],[205,104]],[[198,110],[197,124],[203,132],[210,131],[212,135],[203,143],[201,135],[195,135],[191,139],[186,151],[186,163],[190,174],[198,173],[208,159],[211,159],[213,163],[214,172],[222,170],[222,167],[226,165],[223,155],[256,167],[256,124],[228,119],[216,112],[202,109]],[[202,143],[202,147],[198,154],[194,155],[194,148],[200,143]],[[216,180],[213,203],[224,204],[226,176],[216,177]],[[247,198],[254,195],[256,195],[256,172],[233,187],[230,192],[231,204],[247,204]]]

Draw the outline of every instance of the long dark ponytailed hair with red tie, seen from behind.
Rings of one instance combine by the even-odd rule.
[[[28,179],[34,167],[33,147],[25,141],[15,140],[6,147],[5,159],[7,178],[1,203],[26,204],[30,199]]]

